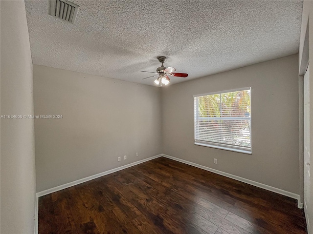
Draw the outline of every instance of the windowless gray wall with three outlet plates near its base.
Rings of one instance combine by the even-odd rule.
[[[35,114],[63,115],[35,119],[38,192],[162,153],[159,88],[39,65],[33,72]]]

